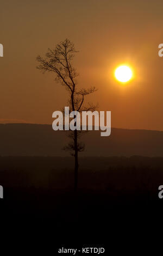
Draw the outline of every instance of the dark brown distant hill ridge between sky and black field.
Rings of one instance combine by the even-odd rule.
[[[69,141],[65,131],[52,125],[0,124],[1,156],[69,156],[62,148]],[[89,131],[79,156],[163,156],[163,132],[111,129],[109,137]]]

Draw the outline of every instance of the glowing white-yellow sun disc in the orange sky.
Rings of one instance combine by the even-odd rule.
[[[115,77],[118,81],[125,83],[128,82],[133,76],[133,72],[129,66],[118,66],[115,70]]]

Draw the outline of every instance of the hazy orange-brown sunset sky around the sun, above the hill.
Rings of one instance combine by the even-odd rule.
[[[52,124],[67,93],[35,58],[68,38],[80,51],[79,86],[98,88],[87,99],[111,111],[112,127],[163,130],[162,13],[162,0],[1,0],[1,121]],[[135,73],[126,86],[113,76],[124,62]]]

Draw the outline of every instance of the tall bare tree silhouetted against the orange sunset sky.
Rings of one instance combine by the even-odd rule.
[[[78,88],[77,86],[77,77],[78,73],[73,66],[73,58],[74,54],[78,51],[75,50],[74,44],[66,39],[61,41],[55,49],[51,50],[48,48],[48,52],[46,53],[46,57],[42,58],[37,56],[36,60],[40,63],[37,66],[37,69],[42,70],[43,72],[49,71],[54,72],[55,81],[65,86],[70,94],[70,98],[68,99],[68,106],[71,111],[95,111],[96,107],[92,103],[85,103],[85,96],[92,94],[96,91],[95,87],[91,87],[89,89]],[[76,125],[76,124],[75,124]],[[82,131],[70,131],[68,133],[68,137],[71,138],[72,142],[68,143],[64,147],[65,150],[73,151],[71,154],[74,156],[75,164],[74,164],[74,190],[77,191],[78,186],[78,152],[84,150],[84,144],[79,142],[79,138],[82,135]]]

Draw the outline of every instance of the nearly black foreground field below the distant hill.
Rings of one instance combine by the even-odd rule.
[[[161,221],[162,157],[85,157],[79,164],[74,194],[73,158],[1,157],[3,223],[50,228],[52,240],[60,234],[69,241],[73,234],[78,242],[87,236],[99,242],[136,230],[140,239]]]

